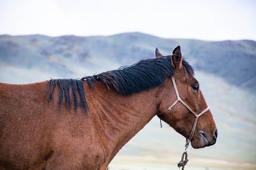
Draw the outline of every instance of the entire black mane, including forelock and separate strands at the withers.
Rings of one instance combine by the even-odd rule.
[[[55,87],[60,87],[59,107],[65,98],[66,106],[71,108],[70,88],[74,96],[74,105],[77,108],[80,106],[88,114],[89,108],[85,98],[84,84],[86,81],[94,89],[94,83],[98,81],[104,82],[108,89],[114,89],[122,95],[131,95],[144,90],[150,90],[156,86],[164,84],[167,77],[174,75],[174,68],[171,64],[172,56],[165,56],[155,59],[145,59],[131,66],[121,66],[118,70],[102,72],[93,76],[86,76],[77,79],[51,79],[49,80],[48,101],[53,99]],[[190,64],[184,59],[182,60],[184,68],[189,74],[194,75],[194,70]],[[78,94],[80,103],[78,102]]]

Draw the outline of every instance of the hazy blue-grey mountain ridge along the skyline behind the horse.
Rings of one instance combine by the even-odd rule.
[[[256,42],[250,40],[163,39],[139,32],[90,37],[0,35],[0,65],[46,72],[51,69],[56,74],[61,72],[60,76],[76,75],[68,66],[70,61],[77,61],[91,70],[100,65],[93,63],[94,57],[96,61],[104,59],[129,65],[154,57],[156,47],[170,55],[177,45],[195,70],[221,76],[230,84],[247,90],[256,90]]]

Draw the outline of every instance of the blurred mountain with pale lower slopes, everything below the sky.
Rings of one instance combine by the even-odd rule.
[[[186,169],[256,169],[256,42],[163,39],[143,33],[76,37],[0,35],[0,82],[81,78],[180,45],[218,127],[216,145],[188,150]],[[176,169],[185,139],[154,117],[111,162],[110,170]]]

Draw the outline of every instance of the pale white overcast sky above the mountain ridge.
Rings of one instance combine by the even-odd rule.
[[[0,34],[256,41],[256,0],[0,0]]]

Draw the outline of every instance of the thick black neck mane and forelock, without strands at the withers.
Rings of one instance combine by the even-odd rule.
[[[101,80],[108,88],[114,88],[122,95],[142,92],[163,84],[167,77],[174,75],[171,57],[141,60],[131,66],[122,66],[118,70],[83,77],[81,80],[87,81],[92,88],[94,82]],[[194,75],[190,64],[185,60],[182,64],[189,74]]]

